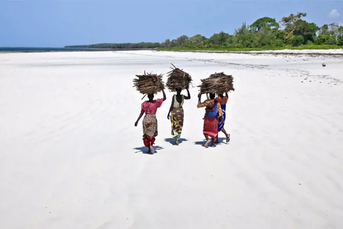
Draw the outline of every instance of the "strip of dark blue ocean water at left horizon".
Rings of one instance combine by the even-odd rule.
[[[0,52],[105,51],[108,48],[0,47]]]

